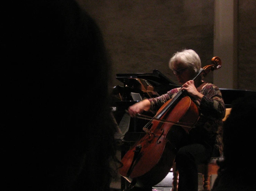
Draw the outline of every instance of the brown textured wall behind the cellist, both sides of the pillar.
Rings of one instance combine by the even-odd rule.
[[[96,20],[103,32],[112,58],[110,87],[122,85],[115,79],[116,73],[151,73],[153,69],[158,69],[177,83],[168,68],[168,61],[173,53],[184,48],[198,53],[202,67],[211,64],[214,56],[221,58],[220,55],[214,55],[216,0],[77,1]],[[229,59],[228,63],[222,62],[223,68],[210,72],[206,80],[213,83],[213,74],[217,74],[224,82],[230,78],[233,80],[232,83],[216,81],[220,88],[256,90],[256,5],[254,0],[236,1],[237,11],[234,10],[237,17],[231,24],[237,24],[238,28],[233,31],[237,32],[237,42],[236,39],[232,41],[237,44],[237,48],[228,42],[222,43],[227,45],[224,50],[235,53],[232,58],[237,57],[237,63]],[[226,14],[223,10],[222,13]],[[226,61],[229,54],[223,56],[221,60]],[[234,63],[237,67],[235,72],[229,69],[234,67]]]

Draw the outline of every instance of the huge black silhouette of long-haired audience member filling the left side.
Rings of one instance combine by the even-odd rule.
[[[2,86],[9,187],[109,190],[118,160],[100,29],[72,0],[24,3],[19,13],[9,51],[21,62],[8,63]]]

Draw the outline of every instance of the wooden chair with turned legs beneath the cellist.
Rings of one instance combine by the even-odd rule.
[[[231,108],[226,109],[226,115],[222,121],[225,121],[230,114]],[[207,163],[201,163],[198,165],[198,173],[203,175],[203,189],[204,191],[210,191],[210,177],[212,174],[218,174],[219,166],[218,160],[223,160],[223,157],[212,157]],[[179,172],[176,169],[176,163],[173,164],[173,188],[171,191],[178,191],[178,177]]]

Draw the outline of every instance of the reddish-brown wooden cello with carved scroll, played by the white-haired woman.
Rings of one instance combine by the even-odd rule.
[[[192,79],[205,77],[210,71],[221,68],[219,57],[213,57],[212,64],[201,68]],[[137,114],[138,118],[149,119],[143,127],[144,137],[137,141],[122,158],[119,173],[132,187],[149,188],[158,184],[173,166],[179,140],[195,125],[200,116],[196,104],[184,90],[168,100],[155,117]]]

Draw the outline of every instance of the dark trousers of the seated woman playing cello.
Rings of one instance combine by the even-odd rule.
[[[176,168],[179,171],[179,191],[198,191],[197,166],[210,158],[212,149],[203,144],[189,144],[181,147],[176,155]]]

